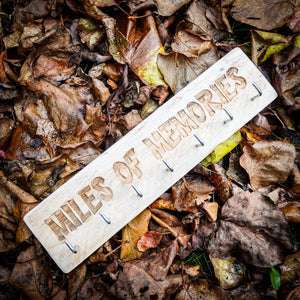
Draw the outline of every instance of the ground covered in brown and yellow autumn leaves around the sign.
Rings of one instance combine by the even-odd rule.
[[[0,5],[0,299],[300,298],[297,0]],[[279,97],[63,274],[23,216],[235,47]]]

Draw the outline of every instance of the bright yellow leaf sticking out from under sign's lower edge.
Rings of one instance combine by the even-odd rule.
[[[201,165],[208,167],[211,164],[218,162],[223,158],[227,153],[233,150],[242,140],[240,131],[238,130],[225,142],[217,146],[213,152],[211,152],[204,160],[201,161]]]

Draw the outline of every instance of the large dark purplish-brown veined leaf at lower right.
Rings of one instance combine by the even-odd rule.
[[[284,214],[258,192],[236,190],[222,208],[210,255],[221,259],[238,257],[258,267],[280,264],[293,249]]]

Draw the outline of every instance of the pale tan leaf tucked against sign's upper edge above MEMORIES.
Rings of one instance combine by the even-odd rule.
[[[199,57],[186,57],[183,54],[171,52],[166,55],[160,54],[157,58],[159,70],[164,76],[172,92],[176,94],[188,83],[198,77],[207,68],[217,61],[214,48]]]

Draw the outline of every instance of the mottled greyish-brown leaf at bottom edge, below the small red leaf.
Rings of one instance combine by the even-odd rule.
[[[182,285],[181,275],[171,275],[165,280],[156,281],[143,269],[126,263],[118,280],[110,291],[119,299],[168,299]]]

